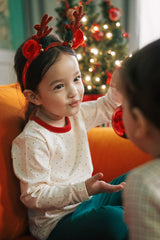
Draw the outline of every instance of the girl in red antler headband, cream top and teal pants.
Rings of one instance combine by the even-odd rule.
[[[17,50],[15,70],[28,109],[25,128],[13,141],[13,167],[32,235],[40,240],[126,239],[120,191],[125,175],[111,184],[102,173],[92,176],[87,140],[89,129],[111,119],[116,89],[82,103],[84,88],[71,42],[42,32]]]

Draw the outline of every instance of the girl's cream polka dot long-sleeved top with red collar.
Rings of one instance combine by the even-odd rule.
[[[111,88],[110,88],[111,89]],[[28,208],[30,231],[45,240],[58,221],[89,199],[85,180],[93,167],[87,131],[111,119],[117,107],[113,90],[81,104],[64,128],[33,117],[13,141],[13,168],[20,180],[21,201]]]

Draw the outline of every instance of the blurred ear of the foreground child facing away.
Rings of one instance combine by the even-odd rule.
[[[141,139],[146,137],[149,133],[149,122],[147,121],[146,117],[143,115],[142,111],[135,107],[132,109],[132,114],[135,121],[135,129],[134,129],[134,136],[137,139]]]

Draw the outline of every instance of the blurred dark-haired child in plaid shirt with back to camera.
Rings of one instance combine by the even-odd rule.
[[[160,39],[121,68],[123,122],[129,139],[153,157],[130,172],[124,190],[131,240],[160,239]]]

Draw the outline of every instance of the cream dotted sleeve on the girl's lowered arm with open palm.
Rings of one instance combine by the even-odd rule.
[[[58,176],[51,174],[51,152],[44,141],[21,137],[14,142],[12,153],[15,174],[21,179],[21,200],[28,208],[64,208],[88,200],[84,181],[72,184],[59,179],[58,183]]]

